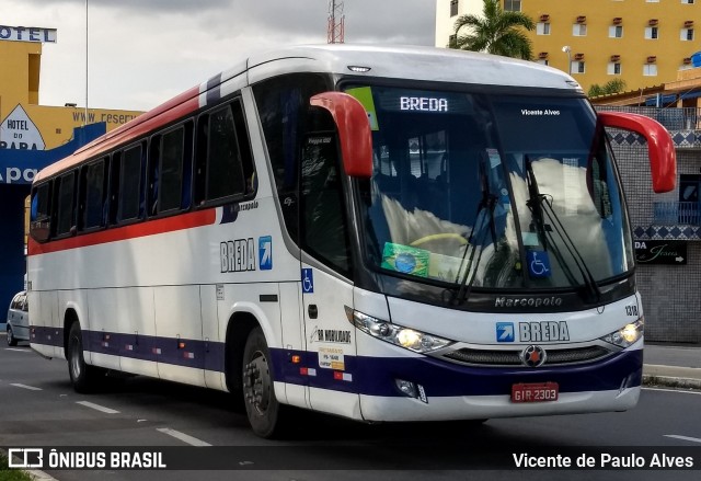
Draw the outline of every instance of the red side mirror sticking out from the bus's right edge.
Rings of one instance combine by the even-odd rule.
[[[657,121],[639,114],[599,112],[604,127],[622,128],[642,135],[647,140],[653,190],[656,193],[674,191],[677,183],[677,154],[671,137]]]

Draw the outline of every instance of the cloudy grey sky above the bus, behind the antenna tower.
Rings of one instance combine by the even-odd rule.
[[[88,105],[147,111],[251,53],[326,42],[327,0],[88,0]],[[433,45],[435,0],[345,0],[345,42]],[[39,104],[85,105],[85,0],[2,0],[0,24],[57,30]],[[1,68],[1,67],[0,67]]]

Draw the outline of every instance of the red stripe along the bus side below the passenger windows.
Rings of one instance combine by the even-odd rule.
[[[216,209],[198,210],[195,213],[133,224],[130,226],[111,228],[94,233],[87,233],[45,243],[38,243],[30,238],[27,249],[30,255],[47,254],[49,252],[67,251],[70,249],[87,248],[89,245],[99,245],[108,242],[117,242],[128,239],[137,239],[140,237],[156,236],[159,233],[192,229],[195,227],[209,226],[215,222],[215,219]]]

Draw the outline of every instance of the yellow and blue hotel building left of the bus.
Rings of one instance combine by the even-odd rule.
[[[56,34],[0,25],[0,308],[24,285],[25,199],[36,172],[140,114],[39,105],[42,49]]]

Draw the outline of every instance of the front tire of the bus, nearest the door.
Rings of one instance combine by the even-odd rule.
[[[280,432],[283,405],[275,398],[271,352],[260,327],[249,333],[243,350],[243,403],[253,432],[265,438]]]

